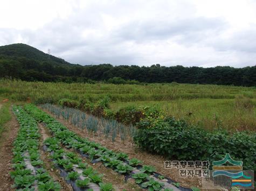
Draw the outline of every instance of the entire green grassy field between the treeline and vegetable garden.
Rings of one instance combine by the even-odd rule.
[[[169,115],[207,129],[255,130],[256,88],[198,84],[114,85],[105,83],[43,83],[1,80],[0,96],[36,104],[60,99],[108,96],[110,109],[155,105]]]

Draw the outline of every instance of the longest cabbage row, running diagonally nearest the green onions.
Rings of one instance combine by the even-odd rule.
[[[106,167],[110,167],[120,174],[132,176],[132,178],[136,180],[136,183],[149,190],[177,190],[177,188],[171,184],[173,183],[175,185],[175,182],[168,182],[167,178],[162,175],[157,176],[153,166],[141,166],[140,160],[136,158],[129,159],[126,153],[116,153],[99,143],[90,142],[87,138],[79,137],[53,117],[40,111],[40,109],[34,105],[26,105],[25,109],[36,120],[45,123],[46,127],[50,129],[54,137],[56,137],[63,145],[67,148],[78,150],[81,155],[90,158],[92,163],[101,161]],[[165,180],[161,181],[161,179]],[[179,185],[178,187],[183,190],[185,189]]]

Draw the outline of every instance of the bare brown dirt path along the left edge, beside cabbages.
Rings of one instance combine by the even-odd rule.
[[[0,142],[0,190],[3,191],[14,190],[11,188],[13,180],[11,179],[9,172],[12,170],[12,143],[17,136],[19,124],[15,116],[13,114],[11,115],[11,121],[5,124],[6,130],[3,131]]]

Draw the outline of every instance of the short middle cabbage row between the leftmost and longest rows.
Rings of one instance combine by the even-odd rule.
[[[87,163],[83,163],[81,157],[74,152],[67,152],[61,148],[57,138],[47,138],[44,141],[44,149],[51,152],[51,158],[61,175],[66,178],[74,190],[100,190],[112,191],[111,183],[103,183],[103,174],[99,174]]]

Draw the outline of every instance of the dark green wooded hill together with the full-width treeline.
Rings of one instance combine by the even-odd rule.
[[[82,66],[70,64],[63,59],[49,56],[36,48],[19,43],[0,47],[0,77],[43,82],[108,80],[112,83],[126,83],[120,78],[114,78],[121,77],[125,80],[145,83],[177,82],[256,86],[256,66],[246,68],[200,68],[180,65],[163,67],[159,64],[151,65],[151,67],[136,65],[114,67],[111,64]]]

